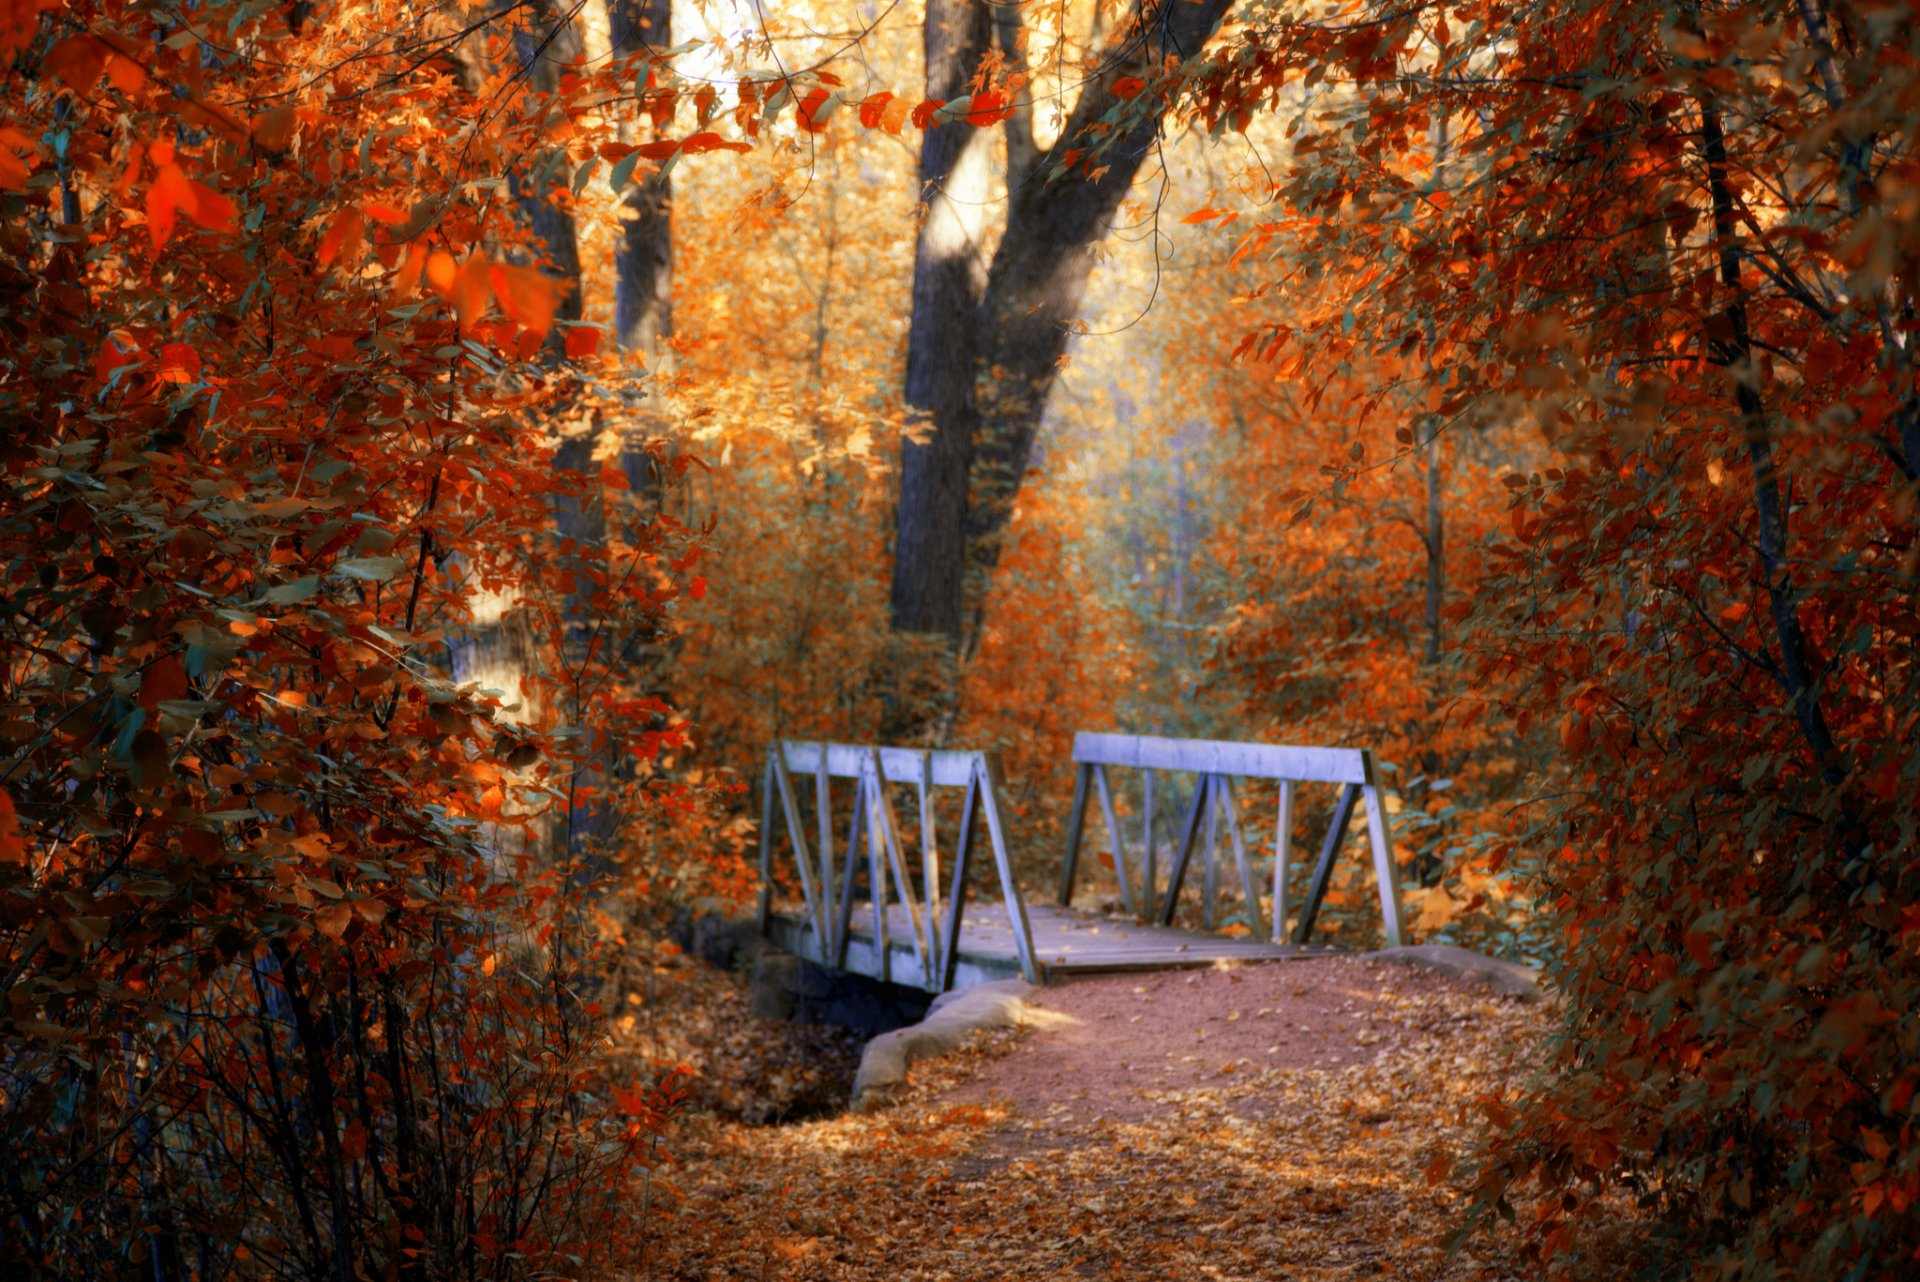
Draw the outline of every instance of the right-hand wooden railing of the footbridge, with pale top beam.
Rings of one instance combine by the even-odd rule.
[[[1087,802],[1098,795],[1100,812],[1106,819],[1108,841],[1114,850],[1114,871],[1119,877],[1119,894],[1127,912],[1162,925],[1173,923],[1181,883],[1187,879],[1187,864],[1194,844],[1204,848],[1202,869],[1202,925],[1213,929],[1213,902],[1217,898],[1217,829],[1225,825],[1233,858],[1240,875],[1240,890],[1246,900],[1248,925],[1254,937],[1265,935],[1261,923],[1260,887],[1248,860],[1246,839],[1240,831],[1240,806],[1235,795],[1235,779],[1271,779],[1279,783],[1279,808],[1273,835],[1273,933],[1275,944],[1286,942],[1286,892],[1292,860],[1294,802],[1302,783],[1338,783],[1340,800],[1334,804],[1327,837],[1321,843],[1319,862],[1308,883],[1306,902],[1300,906],[1300,923],[1294,927],[1292,942],[1304,944],[1313,935],[1313,921],[1319,915],[1321,900],[1327,896],[1327,883],[1332,875],[1334,858],[1340,852],[1340,839],[1354,818],[1354,806],[1365,804],[1367,839],[1373,852],[1373,877],[1380,892],[1380,919],[1388,944],[1402,942],[1400,875],[1394,866],[1394,837],[1386,806],[1380,800],[1379,768],[1367,748],[1304,748],[1277,743],[1227,743],[1212,739],[1160,739],[1152,735],[1096,735],[1079,733],[1073,737],[1073,810],[1068,818],[1068,850],[1060,875],[1060,904],[1073,902],[1073,873],[1079,864],[1081,831],[1087,823]],[[1108,768],[1137,768],[1142,772],[1140,787],[1144,798],[1142,816],[1142,866],[1140,892],[1135,894],[1127,877],[1125,841],[1119,814],[1114,808],[1114,787]],[[1158,896],[1158,843],[1154,839],[1154,772],[1196,773],[1192,800],[1179,829],[1179,843],[1173,850],[1173,864],[1167,875],[1167,892]],[[1204,841],[1202,841],[1204,835]]]

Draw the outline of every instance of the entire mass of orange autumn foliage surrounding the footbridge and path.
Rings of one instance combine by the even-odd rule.
[[[695,75],[566,21],[0,8],[8,1276],[607,1276],[682,1096],[601,1054],[597,879],[743,889],[781,735],[998,748],[1037,873],[1104,727],[1373,747],[1417,929],[1548,962],[1548,1071],[1428,1171],[1473,1226],[1912,1270],[1905,6],[1283,0],[1123,73],[1058,6],[952,100],[910,27]],[[973,251],[1140,121],[1233,148],[1112,219],[1148,305],[906,635],[902,142],[1012,171],[1081,90]],[[618,353],[547,228],[668,171]]]

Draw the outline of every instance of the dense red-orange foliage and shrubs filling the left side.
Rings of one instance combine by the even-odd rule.
[[[553,541],[624,478],[541,426],[564,284],[488,175],[543,104],[296,10],[0,29],[8,1276],[578,1270],[674,1098],[593,1054],[549,841],[672,743],[578,635],[678,549]],[[455,679],[482,597],[518,689]]]

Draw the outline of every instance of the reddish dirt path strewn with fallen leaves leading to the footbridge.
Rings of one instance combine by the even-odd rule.
[[[1528,1278],[1427,1165],[1538,1008],[1352,958],[1087,979],[874,1115],[697,1125],[655,1278]]]

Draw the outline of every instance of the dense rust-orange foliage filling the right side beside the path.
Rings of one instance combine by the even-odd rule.
[[[1555,451],[1459,608],[1461,712],[1551,735],[1496,862],[1544,856],[1567,1023],[1469,1176],[1486,1217],[1544,1186],[1548,1255],[1611,1190],[1676,1272],[1920,1246],[1910,38],[1876,6],[1275,10],[1194,86],[1292,140],[1242,230],[1288,307],[1242,351]]]

